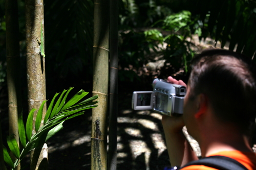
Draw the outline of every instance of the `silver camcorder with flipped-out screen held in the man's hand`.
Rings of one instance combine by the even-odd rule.
[[[173,116],[183,114],[183,101],[186,87],[170,84],[162,79],[153,81],[153,91],[134,91],[132,108],[134,110],[150,110]]]

